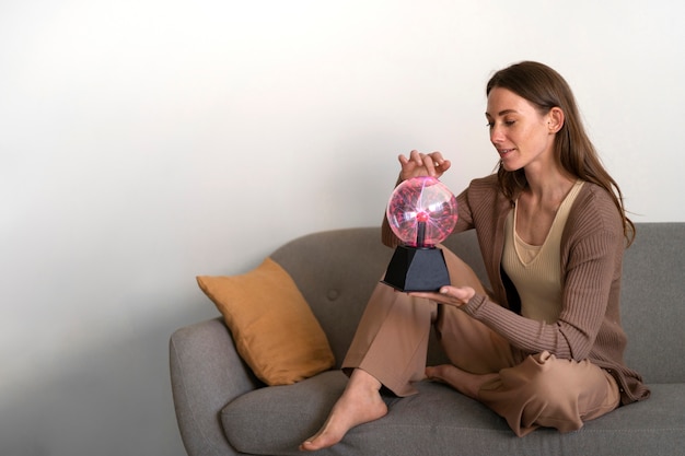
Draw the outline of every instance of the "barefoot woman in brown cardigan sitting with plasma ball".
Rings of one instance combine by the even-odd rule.
[[[486,93],[499,168],[458,196],[455,232],[476,230],[492,291],[446,249],[452,283],[438,293],[379,284],[344,362],[347,388],[301,449],[334,445],[382,418],[381,386],[407,396],[426,377],[481,401],[519,436],[578,430],[649,396],[623,361],[620,271],[634,225],[571,90],[549,67],[526,61],[497,72]],[[399,163],[398,182],[450,168],[439,152],[413,151]],[[383,242],[398,243],[386,220]],[[431,324],[450,364],[426,367]]]

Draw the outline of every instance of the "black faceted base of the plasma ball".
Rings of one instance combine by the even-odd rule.
[[[403,292],[433,292],[450,284],[450,273],[440,248],[399,246],[382,282]]]

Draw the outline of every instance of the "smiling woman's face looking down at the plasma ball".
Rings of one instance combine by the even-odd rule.
[[[485,116],[490,142],[507,171],[553,165],[554,138],[558,128],[553,112],[542,115],[527,100],[495,87],[488,95]],[[559,127],[560,128],[560,127]]]

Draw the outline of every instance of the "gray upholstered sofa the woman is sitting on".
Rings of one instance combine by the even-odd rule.
[[[386,397],[386,417],[352,429],[340,444],[317,454],[685,455],[685,223],[637,229],[624,261],[622,312],[626,362],[649,384],[648,400],[578,432],[543,429],[519,439],[483,405],[422,382],[419,395]],[[485,278],[473,232],[445,244]],[[295,280],[338,363],[391,255],[380,230],[365,227],[311,234],[271,255]],[[333,370],[294,385],[264,387],[219,318],[175,331],[170,355],[178,428],[190,456],[301,454],[298,445],[324,422],[346,384]],[[441,361],[433,341],[429,362]]]

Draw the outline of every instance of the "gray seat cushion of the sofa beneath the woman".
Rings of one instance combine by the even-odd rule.
[[[329,371],[297,385],[245,394],[221,412],[227,437],[241,453],[301,454],[298,445],[318,430],[345,385],[342,373]],[[580,431],[541,429],[520,439],[481,404],[420,382],[419,395],[385,397],[386,417],[352,429],[341,443],[316,454],[351,455],[360,448],[370,455],[678,454],[685,447],[685,386],[650,387],[649,400],[620,407]]]

